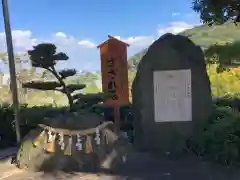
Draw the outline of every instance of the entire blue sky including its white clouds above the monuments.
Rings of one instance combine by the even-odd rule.
[[[53,42],[70,56],[61,66],[78,70],[100,69],[95,46],[108,34],[128,42],[131,56],[166,32],[178,33],[200,23],[191,9],[191,0],[8,1],[15,51]],[[5,50],[3,32],[1,23],[1,51]]]

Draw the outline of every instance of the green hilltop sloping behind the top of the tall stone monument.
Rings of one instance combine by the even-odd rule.
[[[201,25],[179,34],[189,37],[195,44],[201,46],[203,49],[208,48],[216,42],[240,41],[240,27],[235,26],[233,23],[226,23],[212,27]],[[147,50],[144,49],[128,60],[130,70],[136,70],[139,61],[146,51]]]

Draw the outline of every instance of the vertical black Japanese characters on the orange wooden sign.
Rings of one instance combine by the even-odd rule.
[[[116,85],[116,72],[114,69],[114,58],[110,57],[107,60],[107,67],[108,67],[108,92],[112,93],[112,100],[118,100],[117,95],[117,85]]]

